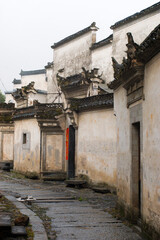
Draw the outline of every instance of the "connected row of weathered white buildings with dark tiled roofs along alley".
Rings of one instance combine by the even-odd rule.
[[[114,187],[125,214],[156,234],[159,20],[157,3],[115,23],[100,42],[92,23],[55,43],[43,72],[22,71],[13,82],[15,170]]]

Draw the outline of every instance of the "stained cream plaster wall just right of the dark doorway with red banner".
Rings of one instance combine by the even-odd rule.
[[[78,117],[77,174],[95,183],[117,184],[116,121],[113,110],[82,112]]]

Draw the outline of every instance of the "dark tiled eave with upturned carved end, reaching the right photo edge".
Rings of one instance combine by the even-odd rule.
[[[130,83],[133,84],[134,74],[136,76],[139,74],[139,78],[142,78],[145,64],[160,51],[160,24],[140,45],[134,42],[131,33],[127,33],[127,37],[127,58],[123,58],[122,64],[112,58],[114,80],[108,86],[114,90],[120,85],[125,85],[125,82],[129,82],[129,78]]]

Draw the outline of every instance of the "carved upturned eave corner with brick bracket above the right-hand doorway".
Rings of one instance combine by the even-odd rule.
[[[127,33],[127,37],[127,58],[123,58],[122,64],[112,58],[115,79],[108,86],[114,90],[119,86],[124,87],[127,91],[127,107],[129,107],[132,103],[144,98],[144,63],[138,58],[140,46],[134,42],[131,33]]]

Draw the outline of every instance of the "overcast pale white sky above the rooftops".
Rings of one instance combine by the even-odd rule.
[[[0,0],[0,80],[7,91],[23,70],[53,61],[54,42],[96,22],[97,41],[110,26],[155,4],[154,0]],[[0,82],[0,89],[5,91]]]

